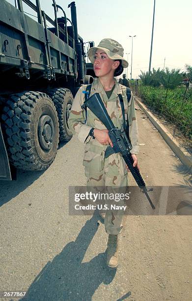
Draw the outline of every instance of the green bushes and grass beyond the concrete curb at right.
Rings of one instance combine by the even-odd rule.
[[[180,69],[141,71],[137,94],[192,140],[192,66]]]

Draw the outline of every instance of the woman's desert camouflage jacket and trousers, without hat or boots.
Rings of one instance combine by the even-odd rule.
[[[84,124],[85,112],[82,112],[81,108],[81,105],[84,102],[84,93],[82,93],[83,90],[86,90],[86,85],[82,86],[75,96],[68,119],[68,125],[72,133],[77,133],[79,140],[85,145],[83,166],[85,167],[87,186],[110,186],[110,188],[123,186],[126,189],[128,184],[127,169],[121,154],[115,153],[105,159],[105,150],[107,146],[100,144],[96,139],[88,136],[92,127],[97,129],[106,129],[106,127],[88,108],[87,121],[86,124]],[[122,94],[125,107],[125,118],[128,118],[130,124],[130,139],[133,146],[131,153],[137,154],[138,133],[133,94],[128,105],[126,87],[119,85],[115,80],[115,88],[110,96],[110,99],[108,99],[108,96],[99,79],[96,79],[93,82],[90,96],[96,92],[100,94],[113,124],[118,128],[123,126],[123,116],[117,94]],[[121,203],[122,202],[118,202],[117,205],[123,205]],[[107,233],[118,234],[120,232],[122,214],[122,211],[107,211],[105,217],[105,227]]]

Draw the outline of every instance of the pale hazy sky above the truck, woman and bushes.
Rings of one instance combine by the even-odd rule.
[[[8,0],[14,4],[14,0]],[[35,3],[35,0],[32,0]],[[54,19],[52,0],[40,0],[41,8]],[[71,1],[56,0],[70,17]],[[132,77],[149,67],[154,0],[76,0],[78,31],[84,42],[110,37],[124,48],[128,56],[128,77],[131,72],[131,38],[133,39]],[[34,14],[35,12],[24,10]],[[62,13],[59,11],[58,17]],[[192,65],[192,0],[156,0],[153,53],[151,67],[181,68]]]

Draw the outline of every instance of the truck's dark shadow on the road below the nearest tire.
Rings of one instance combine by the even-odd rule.
[[[16,181],[0,181],[0,207],[24,191],[36,181],[45,171],[17,170]]]

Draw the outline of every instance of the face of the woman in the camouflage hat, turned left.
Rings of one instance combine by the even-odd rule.
[[[103,50],[97,50],[93,68],[95,75],[98,77],[114,75],[115,69],[118,67],[119,61],[111,60]]]

